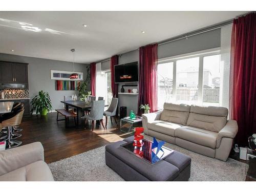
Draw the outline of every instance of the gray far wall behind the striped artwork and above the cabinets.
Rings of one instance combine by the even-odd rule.
[[[38,94],[40,90],[49,92],[50,98],[52,100],[53,110],[62,108],[62,104],[60,103],[60,101],[63,100],[63,97],[65,95],[78,95],[78,91],[56,91],[55,80],[52,80],[50,78],[50,70],[73,71],[72,62],[25,57],[3,53],[0,53],[0,60],[29,63],[28,75],[30,98],[32,99],[35,95]],[[86,66],[87,65],[81,63],[75,63],[75,71],[83,72],[84,77],[86,77]]]

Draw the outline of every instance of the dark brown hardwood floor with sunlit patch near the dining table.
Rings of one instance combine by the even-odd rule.
[[[131,136],[120,131],[120,121],[117,119],[111,123],[108,121],[108,129],[97,124],[94,131],[91,130],[91,123],[75,128],[73,118],[70,118],[66,127],[65,121],[56,121],[57,113],[49,113],[47,116],[31,115],[24,116],[20,126],[23,128],[23,136],[20,140],[23,144],[39,141],[45,148],[45,161],[47,163],[65,159],[94,148],[104,146],[110,142],[122,140]],[[105,119],[104,119],[105,123]],[[230,157],[249,164],[246,181],[255,181],[255,160],[240,160],[237,154],[231,152]],[[253,175],[254,174],[254,175]],[[253,178],[251,177],[253,176]]]

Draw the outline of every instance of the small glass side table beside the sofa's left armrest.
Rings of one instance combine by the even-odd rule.
[[[134,133],[134,128],[142,126],[142,117],[136,116],[135,120],[125,117],[120,120],[120,131],[124,133]]]

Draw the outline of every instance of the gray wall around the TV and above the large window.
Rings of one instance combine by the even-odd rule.
[[[167,44],[158,46],[158,58],[165,58],[175,55],[181,55],[201,50],[213,49],[220,47],[221,30],[216,29],[213,31],[201,33],[199,35],[184,38],[181,40],[169,42]],[[139,62],[139,50],[124,53],[119,56],[119,64],[127,62]],[[110,61],[108,61],[110,65]],[[105,66],[107,66],[105,64]],[[131,84],[131,83],[129,83]],[[138,84],[138,83],[137,83]],[[122,84],[119,84],[118,90],[120,92]],[[125,87],[125,92],[127,89],[133,89],[134,87]],[[138,109],[138,96],[136,95],[119,95],[119,107],[127,106],[127,115],[129,115],[131,110],[137,112]]]

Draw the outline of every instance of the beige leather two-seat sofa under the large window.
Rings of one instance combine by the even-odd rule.
[[[223,107],[164,103],[162,111],[143,114],[142,125],[146,135],[226,161],[238,132],[227,116]]]

